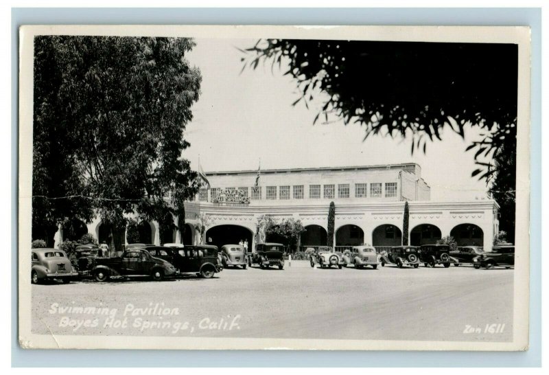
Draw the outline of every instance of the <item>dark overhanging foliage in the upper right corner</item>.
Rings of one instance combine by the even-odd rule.
[[[301,92],[294,104],[320,95],[326,120],[362,124],[364,139],[411,136],[412,153],[425,152],[444,126],[461,137],[466,126],[482,129],[467,149],[481,179],[495,172],[486,160],[516,136],[517,45],[264,39],[244,53],[244,67],[288,65]]]

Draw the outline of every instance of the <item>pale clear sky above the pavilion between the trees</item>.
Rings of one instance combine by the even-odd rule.
[[[184,135],[191,146],[183,157],[191,168],[198,170],[200,164],[206,173],[257,170],[260,159],[261,169],[413,162],[421,166],[432,201],[486,197],[486,182],[471,177],[474,151],[465,152],[479,138],[476,129],[469,128],[463,139],[447,126],[443,141],[428,143],[425,154],[412,155],[410,138],[375,135],[364,140],[364,127],[358,124],[345,126],[338,119],[313,124],[323,102],[319,98],[309,109],[302,102],[292,106],[299,91],[291,76],[283,76],[284,66],[242,71],[244,54],[238,48],[255,42],[197,38],[186,55],[202,73],[200,99]]]

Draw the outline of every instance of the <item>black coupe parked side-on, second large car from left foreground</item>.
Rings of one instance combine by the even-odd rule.
[[[152,257],[145,249],[129,249],[119,257],[95,259],[92,273],[98,282],[106,282],[112,276],[150,276],[160,281],[178,271],[170,262]]]

